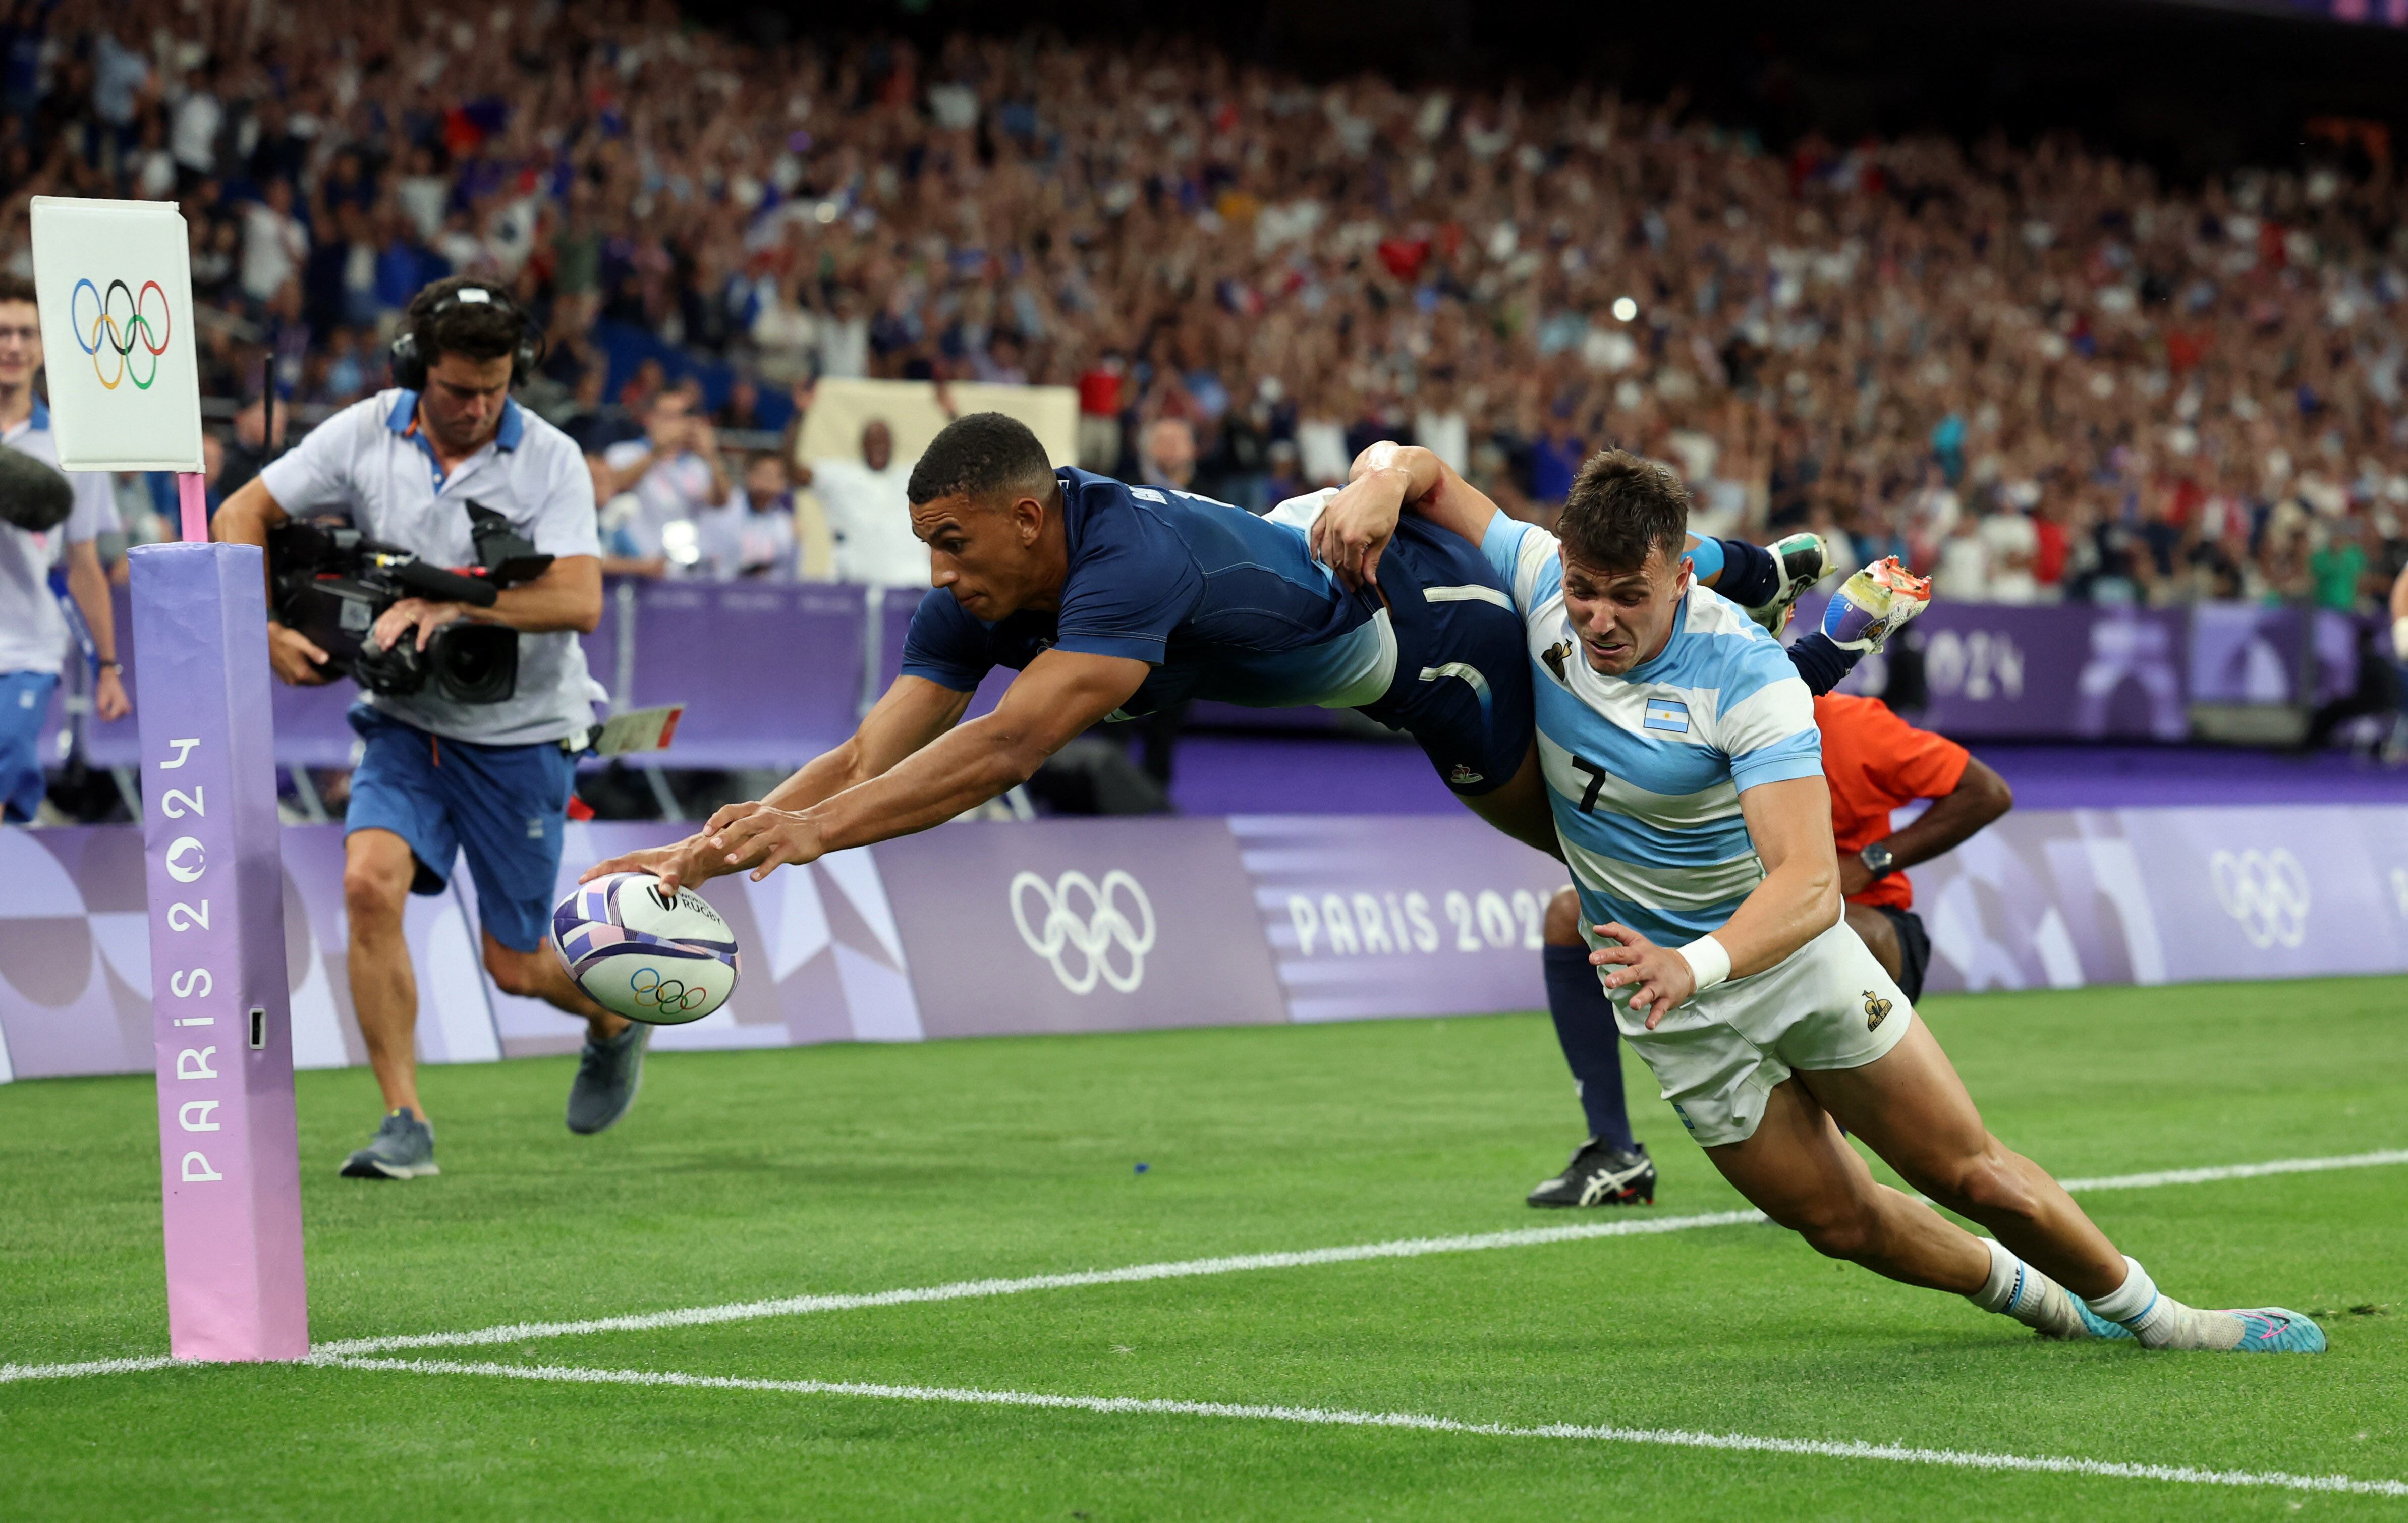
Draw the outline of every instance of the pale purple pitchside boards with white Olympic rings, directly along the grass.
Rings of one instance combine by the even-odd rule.
[[[571,825],[561,893],[677,825]],[[2018,811],[1912,873],[1934,991],[2408,970],[2408,804]],[[1544,1006],[1563,869],[1469,816],[956,823],[763,883],[703,885],[734,998],[655,1047],[1096,1032]],[[366,1061],[344,979],[342,830],[284,830],[294,1061]],[[414,897],[419,1056],[573,1051],[491,986],[477,902]],[[0,830],[0,1075],[149,1071],[140,835]]]

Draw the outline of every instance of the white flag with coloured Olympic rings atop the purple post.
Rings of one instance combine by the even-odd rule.
[[[43,378],[70,472],[197,472],[193,257],[173,202],[34,197]]]

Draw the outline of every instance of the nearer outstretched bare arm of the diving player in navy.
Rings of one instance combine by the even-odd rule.
[[[787,864],[942,825],[1028,782],[1047,755],[1127,703],[1149,671],[1134,657],[1047,650],[1004,688],[992,715],[809,808],[734,804],[713,816],[710,847],[725,852],[727,871],[751,869],[759,883]]]

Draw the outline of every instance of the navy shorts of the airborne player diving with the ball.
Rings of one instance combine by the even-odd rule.
[[[1380,592],[1397,630],[1397,681],[1363,712],[1421,741],[1457,794],[1512,782],[1536,734],[1529,647],[1479,546],[1406,517],[1380,556]]]

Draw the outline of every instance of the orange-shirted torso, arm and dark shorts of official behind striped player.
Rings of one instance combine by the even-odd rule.
[[[1813,722],[1823,731],[1847,924],[1905,996],[1919,1001],[1931,936],[1914,914],[1905,869],[1953,852],[2013,808],[2015,794],[1963,746],[1914,729],[1878,698],[1825,693],[1813,700]],[[1914,799],[1931,799],[1931,808],[1890,832],[1890,811]]]

